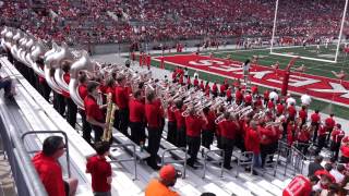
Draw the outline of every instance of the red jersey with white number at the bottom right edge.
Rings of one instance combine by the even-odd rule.
[[[310,196],[312,184],[308,177],[297,175],[284,189],[282,196]]]

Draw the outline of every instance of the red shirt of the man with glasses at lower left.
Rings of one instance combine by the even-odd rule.
[[[32,162],[49,196],[65,196],[62,169],[59,162],[38,152]]]

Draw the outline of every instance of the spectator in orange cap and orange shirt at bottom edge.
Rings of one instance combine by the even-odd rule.
[[[152,180],[145,188],[145,196],[179,196],[170,187],[174,186],[177,177],[180,176],[181,173],[172,164],[164,166],[159,171],[159,179]]]

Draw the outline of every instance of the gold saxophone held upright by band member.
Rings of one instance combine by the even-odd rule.
[[[112,95],[109,93],[107,95],[107,117],[106,117],[106,127],[103,133],[101,140],[109,142],[112,136],[112,125],[115,121],[115,112],[117,110],[117,106],[112,103]]]

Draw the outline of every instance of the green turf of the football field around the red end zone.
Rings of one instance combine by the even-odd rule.
[[[297,48],[280,48],[280,49],[274,49],[274,52],[278,53],[291,53],[293,56],[303,56],[309,58],[317,58],[317,59],[325,59],[325,60],[334,60],[335,56],[335,46],[328,46],[326,49],[324,46],[321,46],[321,50],[317,53],[315,46],[308,46],[305,49],[303,47],[297,47]],[[246,59],[252,59],[253,56],[258,56],[258,64],[270,66],[276,61],[280,63],[280,69],[285,69],[288,65],[288,62],[290,61],[290,57],[280,57],[270,54],[269,49],[252,49],[252,50],[226,50],[221,48],[220,50],[207,50],[202,51],[201,54],[209,54],[210,52],[214,54],[215,58],[227,58],[229,54],[233,60],[238,60],[241,62],[244,62]],[[165,56],[173,56],[176,53],[167,53]],[[342,52],[338,56],[337,63],[329,63],[329,62],[321,62],[315,60],[305,60],[305,59],[299,59],[293,68],[300,66],[302,64],[305,65],[305,73],[313,74],[313,75],[320,75],[325,77],[335,78],[335,75],[332,73],[332,71],[339,72],[340,70],[344,70],[346,73],[349,73],[348,69],[348,61],[349,57],[345,57]],[[159,66],[158,61],[152,61],[152,65]],[[173,70],[174,66],[171,64],[165,63],[165,69],[167,70]],[[190,75],[193,75],[194,71],[189,70]],[[225,78],[221,76],[217,76],[214,74],[207,74],[204,72],[200,72],[200,77],[206,81],[218,81],[222,82]],[[229,84],[231,84],[232,81],[229,81]],[[264,91],[264,87],[260,86],[260,93]],[[297,102],[300,103],[300,96],[293,95],[298,100]],[[334,103],[330,103],[330,100],[328,102],[320,101],[313,99],[311,108],[312,110],[318,109],[321,112],[324,113],[335,113],[335,115],[349,119],[349,108],[337,106]]]

